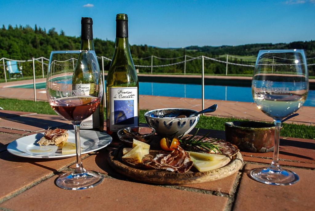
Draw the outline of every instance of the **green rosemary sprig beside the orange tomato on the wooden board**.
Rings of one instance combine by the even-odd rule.
[[[215,144],[212,144],[213,142],[215,142],[217,139],[213,138],[209,141],[202,141],[205,137],[207,137],[209,135],[209,133],[205,134],[202,138],[197,138],[195,137],[197,135],[199,131],[199,128],[197,129],[197,131],[195,132],[195,134],[193,134],[191,137],[187,137],[187,138],[183,138],[183,137],[180,137],[179,138],[179,141],[180,141],[180,144],[184,144],[184,145],[189,145],[189,146],[192,146],[192,147],[197,147],[199,149],[205,149],[207,151],[215,151],[215,152],[220,152],[220,147],[218,147],[217,145]]]

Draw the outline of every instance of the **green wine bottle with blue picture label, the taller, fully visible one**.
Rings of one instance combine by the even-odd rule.
[[[128,42],[128,15],[116,15],[114,56],[106,79],[106,131],[139,126],[139,81]]]

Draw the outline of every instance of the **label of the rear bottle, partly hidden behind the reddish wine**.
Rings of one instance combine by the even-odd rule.
[[[72,91],[75,91],[77,95],[88,96],[94,93],[94,84],[72,84]],[[100,107],[97,107],[95,113],[90,115],[85,120],[82,120],[80,128],[91,129],[99,126],[99,115],[94,115],[99,113]],[[93,121],[94,120],[94,121]],[[93,124],[94,123],[94,124]]]

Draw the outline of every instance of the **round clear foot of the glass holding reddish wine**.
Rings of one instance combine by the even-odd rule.
[[[93,188],[103,181],[103,176],[93,171],[75,174],[65,173],[56,180],[56,185],[66,190],[83,190]]]

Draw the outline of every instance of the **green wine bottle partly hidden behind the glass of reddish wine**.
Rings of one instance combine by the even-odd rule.
[[[81,95],[89,95],[90,90],[95,88],[93,71],[100,68],[94,51],[92,25],[92,18],[82,17],[80,50],[90,50],[90,54],[79,54],[72,76],[72,91],[81,92]],[[104,131],[104,98],[96,111],[81,122],[80,129]]]

